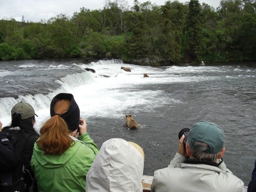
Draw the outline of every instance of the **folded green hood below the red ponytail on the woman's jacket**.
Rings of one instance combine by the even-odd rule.
[[[44,154],[44,151],[39,149],[37,144],[34,144],[34,157],[38,162],[46,168],[58,168],[69,161],[79,149],[82,143],[74,141],[71,146],[63,154]]]

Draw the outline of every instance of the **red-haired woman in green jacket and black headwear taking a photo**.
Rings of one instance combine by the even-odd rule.
[[[38,191],[84,192],[87,173],[99,149],[87,133],[85,120],[80,119],[72,94],[55,96],[50,113],[31,160]]]

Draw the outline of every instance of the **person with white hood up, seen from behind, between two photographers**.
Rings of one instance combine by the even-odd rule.
[[[142,192],[144,152],[121,138],[105,141],[86,177],[86,192]]]

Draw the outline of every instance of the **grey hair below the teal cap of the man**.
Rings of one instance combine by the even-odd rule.
[[[196,146],[196,148],[189,146],[191,155],[193,156],[193,158],[198,159],[198,160],[208,160],[208,161],[212,161],[214,162],[219,153],[207,153],[205,152],[205,150],[207,150],[209,148],[209,145],[207,143],[204,143],[202,141],[195,141],[194,142],[194,146]]]

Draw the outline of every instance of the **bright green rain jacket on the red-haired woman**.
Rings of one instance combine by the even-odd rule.
[[[88,133],[78,139],[73,137],[69,149],[57,155],[45,155],[34,144],[31,166],[39,192],[85,191],[86,175],[99,149]]]

